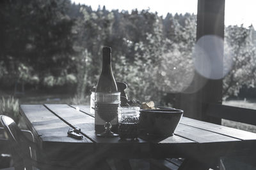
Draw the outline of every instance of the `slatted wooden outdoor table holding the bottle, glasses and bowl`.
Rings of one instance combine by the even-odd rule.
[[[248,155],[256,151],[256,134],[183,117],[175,135],[164,139],[99,138],[89,106],[67,104],[21,105],[24,118],[47,160],[73,162],[76,166],[97,160],[186,158],[180,169],[213,167],[220,157]],[[81,140],[67,137],[79,127]]]

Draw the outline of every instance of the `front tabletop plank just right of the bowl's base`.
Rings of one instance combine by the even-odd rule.
[[[174,134],[182,136],[183,138],[196,141],[198,143],[216,143],[216,142],[230,142],[240,141],[239,139],[230,138],[215,132],[205,131],[189,125],[179,124],[175,129]]]

